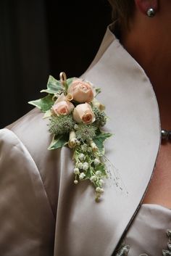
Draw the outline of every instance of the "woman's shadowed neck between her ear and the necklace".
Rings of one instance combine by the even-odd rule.
[[[171,130],[170,42],[164,40],[161,30],[159,33],[146,28],[147,24],[134,22],[130,31],[122,33],[121,42],[149,77],[157,96],[162,128]]]

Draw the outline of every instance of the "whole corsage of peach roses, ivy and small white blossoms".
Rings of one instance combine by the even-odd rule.
[[[68,78],[60,73],[59,80],[51,75],[47,83],[48,95],[28,102],[49,118],[52,141],[49,150],[69,146],[73,151],[74,183],[90,180],[96,191],[96,200],[104,192],[104,178],[108,178],[104,160],[104,141],[112,133],[102,131],[107,123],[104,105],[96,96],[101,92],[87,80]]]

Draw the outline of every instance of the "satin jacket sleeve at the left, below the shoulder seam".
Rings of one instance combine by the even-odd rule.
[[[0,152],[0,254],[53,255],[54,216],[35,162],[7,129]]]

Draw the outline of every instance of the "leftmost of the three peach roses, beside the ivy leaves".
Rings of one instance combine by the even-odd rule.
[[[74,105],[71,102],[57,102],[52,107],[52,112],[57,115],[67,115],[74,109]]]

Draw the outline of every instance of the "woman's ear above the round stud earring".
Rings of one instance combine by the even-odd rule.
[[[157,12],[158,0],[135,0],[135,5],[143,15],[146,15],[146,12],[150,8],[153,8]]]

